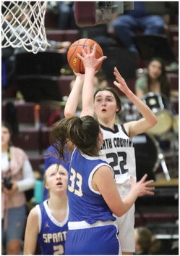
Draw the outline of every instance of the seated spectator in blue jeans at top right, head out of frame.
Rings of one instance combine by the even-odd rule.
[[[124,12],[113,22],[116,36],[121,40],[129,51],[137,51],[134,44],[134,36],[137,30],[143,30],[145,35],[162,34],[165,28],[165,22],[161,15],[150,15],[145,1],[134,1],[134,10]],[[154,14],[158,11],[158,5],[162,8],[160,2],[157,2],[156,9],[151,9]],[[150,4],[148,4],[150,8]],[[162,10],[166,12],[166,10]]]

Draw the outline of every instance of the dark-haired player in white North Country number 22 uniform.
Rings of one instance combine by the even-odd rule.
[[[88,55],[88,54],[87,54]],[[84,65],[93,68],[92,63],[88,62],[88,57],[78,57],[82,59]],[[116,81],[114,85],[118,87],[129,100],[137,106],[142,114],[142,118],[137,121],[124,123],[124,125],[115,125],[116,113],[121,110],[121,102],[118,92],[113,88],[100,88],[94,96],[94,111],[103,131],[104,141],[101,148],[101,154],[106,154],[107,162],[113,167],[117,187],[121,197],[124,198],[131,187],[130,176],[136,177],[135,173],[135,155],[132,146],[133,136],[144,133],[157,123],[157,118],[142,100],[137,98],[128,88],[124,78],[114,67]],[[93,74],[95,75],[95,73]],[[93,81],[93,79],[91,79]],[[86,94],[92,93],[93,82],[89,80],[86,88]],[[92,112],[93,112],[93,105]],[[73,106],[65,108],[65,116],[74,115]],[[119,226],[119,239],[123,255],[132,255],[135,251],[134,244],[134,205],[126,215],[117,218]]]

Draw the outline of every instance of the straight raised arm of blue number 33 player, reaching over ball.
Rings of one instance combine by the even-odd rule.
[[[90,47],[87,46],[87,53],[82,49],[82,56],[77,54],[85,66],[85,81],[82,88],[82,112],[81,117],[85,115],[93,116],[93,82],[95,76],[95,67],[98,66],[100,62],[103,62],[106,59],[106,56],[100,57],[99,59],[95,58],[96,44],[93,46],[93,51],[90,51]]]

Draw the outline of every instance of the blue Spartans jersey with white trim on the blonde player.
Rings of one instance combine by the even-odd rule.
[[[68,213],[59,223],[48,208],[47,200],[37,205],[39,234],[38,242],[42,255],[64,255],[64,244],[67,237]]]

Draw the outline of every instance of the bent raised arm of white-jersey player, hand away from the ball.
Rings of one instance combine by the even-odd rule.
[[[141,99],[139,99],[133,92],[129,89],[127,86],[127,83],[125,82],[124,78],[121,77],[119,71],[116,67],[114,67],[113,74],[116,77],[116,81],[113,82],[113,84],[119,88],[124,94],[129,98],[129,100],[136,105],[137,109],[142,114],[143,118],[137,121],[132,121],[124,124],[124,128],[126,128],[127,133],[132,138],[133,136],[144,133],[145,131],[152,128],[157,123],[157,118],[153,114],[153,112],[150,110],[147,105],[142,102]]]

